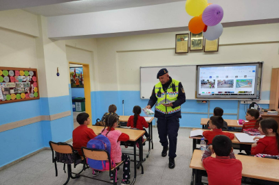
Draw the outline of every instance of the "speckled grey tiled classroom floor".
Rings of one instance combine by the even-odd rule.
[[[149,158],[143,163],[144,174],[141,174],[141,170],[137,170],[137,180],[135,184],[190,184],[192,169],[189,168],[190,160],[192,157],[192,140],[189,138],[190,129],[180,129],[177,143],[177,158],[175,158],[175,169],[168,168],[168,157],[161,157],[161,144],[157,134],[157,128],[153,128],[154,135],[154,149],[151,150]],[[122,151],[129,153],[133,151],[133,148],[125,149],[122,147]],[[144,146],[144,156],[148,151],[148,145]],[[67,169],[67,167],[66,167]],[[80,171],[82,165],[79,164],[76,169],[73,168],[73,172]],[[91,175],[92,171],[87,169],[83,175]],[[133,180],[133,162],[131,162],[131,180]],[[118,177],[122,179],[122,167],[118,171]],[[109,179],[109,173],[104,172],[98,176],[102,180]],[[52,151],[44,150],[36,155],[27,158],[12,167],[0,171],[0,184],[1,185],[30,185],[30,184],[58,184],[62,185],[67,180],[67,173],[63,171],[63,164],[58,163],[58,177],[55,176],[54,164],[52,164]],[[96,180],[91,180],[85,177],[80,177],[76,180],[69,180],[71,184],[106,184]],[[120,182],[118,182],[120,184]]]

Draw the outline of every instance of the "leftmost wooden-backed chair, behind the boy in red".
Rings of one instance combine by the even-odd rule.
[[[52,149],[52,162],[54,163],[56,176],[58,175],[56,162],[64,163],[64,168],[63,168],[64,171],[65,171],[65,165],[67,164],[68,178],[64,185],[66,185],[69,182],[70,178],[76,179],[80,177],[79,174],[82,171],[84,171],[84,168],[79,173],[74,173],[76,174],[75,177],[71,175],[72,174],[71,164],[74,164],[74,168],[76,168],[77,164],[82,163],[82,158],[80,158],[80,156],[78,155],[78,151],[74,150],[74,148],[67,143],[54,143],[52,141],[49,141],[49,146]],[[55,151],[55,155],[54,155],[54,151]]]

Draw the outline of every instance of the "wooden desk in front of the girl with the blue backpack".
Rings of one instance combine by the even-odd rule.
[[[95,134],[100,134],[104,127],[101,126],[95,126],[95,125],[89,125],[89,128],[91,128]],[[144,135],[145,131],[144,130],[132,130],[132,129],[125,129],[125,128],[115,128],[115,130],[120,130],[122,133],[128,134],[131,141],[134,143],[134,179],[131,185],[135,184],[135,180],[137,178],[137,167],[142,167],[142,174],[144,174],[144,167],[142,166],[142,160],[143,160],[143,147],[142,147],[142,136]],[[136,141],[139,141],[139,162],[137,163],[137,153],[136,153]],[[131,160],[132,161],[132,160]]]

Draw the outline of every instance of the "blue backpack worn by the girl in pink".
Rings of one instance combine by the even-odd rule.
[[[87,148],[106,150],[111,157],[111,142],[109,141],[109,138],[103,136],[102,134],[89,140],[87,143]],[[87,158],[87,164],[91,169],[96,169],[98,171],[109,171],[109,160],[93,160]],[[115,167],[113,160],[111,160],[111,166]]]

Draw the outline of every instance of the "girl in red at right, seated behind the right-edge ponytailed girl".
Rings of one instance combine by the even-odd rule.
[[[241,132],[243,132],[243,129],[258,129],[258,124],[263,119],[256,109],[248,109],[245,118],[248,122],[243,124]]]

